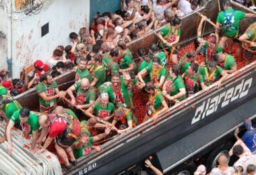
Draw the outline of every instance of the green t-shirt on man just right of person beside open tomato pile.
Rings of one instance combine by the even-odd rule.
[[[172,79],[172,77],[168,77],[167,78],[167,81],[172,81],[172,85],[170,87],[170,96],[175,96],[177,94],[179,94],[180,92],[180,89],[182,88],[185,88],[185,83],[182,79],[182,77],[178,76],[176,77],[175,79]],[[184,95],[183,97],[181,98],[178,98],[177,100],[181,101],[181,100],[184,100],[186,98],[186,96]]]

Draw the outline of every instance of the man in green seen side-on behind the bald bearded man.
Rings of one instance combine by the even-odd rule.
[[[94,64],[94,75],[92,75],[91,87],[98,89],[106,79],[106,71],[102,65],[102,55],[94,55],[92,64]]]

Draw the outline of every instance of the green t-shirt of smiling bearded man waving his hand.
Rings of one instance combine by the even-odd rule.
[[[130,97],[129,97],[129,92],[128,88],[125,85],[125,80],[123,79],[123,76],[120,76],[121,80],[121,92],[119,89],[115,88],[115,92],[112,88],[111,85],[109,85],[106,89],[105,92],[108,93],[109,100],[111,103],[115,104],[115,107],[118,108],[119,106],[123,106],[124,108],[130,108]],[[123,98],[123,101],[121,100]]]

